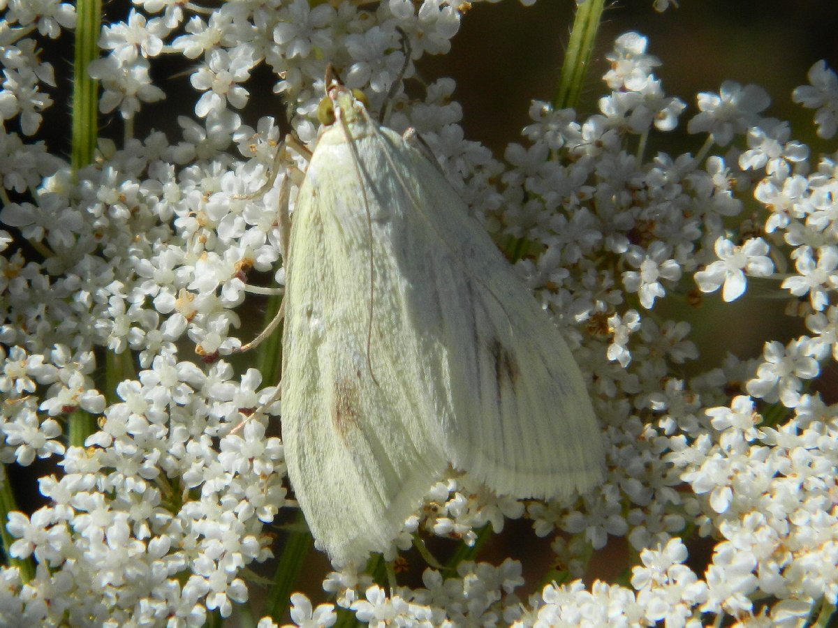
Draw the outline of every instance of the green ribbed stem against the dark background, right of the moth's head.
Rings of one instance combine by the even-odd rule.
[[[587,0],[577,8],[573,20],[571,39],[567,43],[565,62],[561,66],[561,79],[556,90],[553,106],[556,109],[576,108],[582,85],[587,75],[587,66],[591,60],[593,45],[597,38],[597,29],[603,17],[604,0]]]

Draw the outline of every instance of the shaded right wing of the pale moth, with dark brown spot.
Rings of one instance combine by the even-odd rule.
[[[386,129],[380,141],[392,147],[388,180],[410,197],[401,237],[384,240],[392,249],[382,255],[399,259],[414,333],[433,338],[418,359],[447,374],[426,384],[445,399],[437,421],[447,460],[501,495],[595,485],[602,435],[561,333],[436,163]]]

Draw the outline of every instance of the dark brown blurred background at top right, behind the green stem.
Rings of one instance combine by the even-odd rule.
[[[422,64],[424,72],[456,78],[466,136],[499,152],[519,136],[530,99],[551,100],[574,6],[572,0],[542,0],[532,7],[514,0],[474,3],[451,54]],[[607,93],[600,80],[608,69],[605,54],[620,34],[634,30],[649,38],[647,52],[663,62],[655,74],[666,93],[690,107],[682,120],[697,112],[697,92],[737,80],[768,90],[770,115],[805,123],[812,115],[799,113],[791,90],[806,82],[818,59],[838,64],[836,28],[838,3],[831,0],[682,0],[680,8],[664,13],[654,12],[651,0],[613,3],[603,13],[579,111],[597,111],[597,99]],[[795,126],[796,136],[809,136],[805,124]]]

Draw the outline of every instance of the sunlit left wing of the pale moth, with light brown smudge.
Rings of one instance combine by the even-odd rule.
[[[401,316],[404,281],[370,249],[382,236],[370,240],[364,183],[340,133],[321,136],[292,219],[282,438],[314,538],[345,563],[388,548],[447,462],[416,359],[422,341]],[[392,201],[370,194],[378,200]]]

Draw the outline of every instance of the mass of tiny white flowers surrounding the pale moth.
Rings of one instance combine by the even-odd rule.
[[[248,568],[272,554],[267,524],[294,502],[282,444],[266,435],[276,383],[237,371],[234,354],[251,336],[251,279],[284,281],[277,204],[297,179],[277,144],[286,122],[313,144],[328,64],[388,126],[422,134],[499,242],[522,245],[522,281],[587,373],[608,476],[543,502],[450,471],[386,553],[416,536],[472,545],[487,524],[526,517],[561,566],[529,600],[511,559],[427,569],[422,586],[391,590],[347,565],[323,583],[329,603],[290,596],[292,621],[333,625],[337,606],[370,625],[777,625],[838,604],[838,411],[813,385],[838,358],[836,157],[811,157],[764,115],[765,90],[730,81],[685,123],[704,142],[695,154],[645,155],[687,109],[654,75],[646,39],[626,33],[599,111],[534,102],[501,162],[464,138],[452,80],[420,96],[401,84],[414,61],[447,53],[467,4],[134,0],[90,66],[126,139],[76,168],[37,135],[55,106],[37,38],[66,36],[74,9],[4,4],[0,461],[53,459],[60,473],[39,478],[43,507],[3,512],[0,623],[204,625],[249,600]],[[163,57],[184,60],[194,89],[181,132],[131,136],[168,98],[152,79]],[[274,77],[287,121],[245,124],[256,71]],[[809,80],[794,100],[828,140],[838,78],[819,62]],[[690,323],[656,308],[716,291],[723,307],[749,280],[772,286],[804,334],[686,379],[700,357]],[[591,550],[613,537],[631,548],[630,582],[584,584]],[[702,542],[711,555],[691,562]]]

